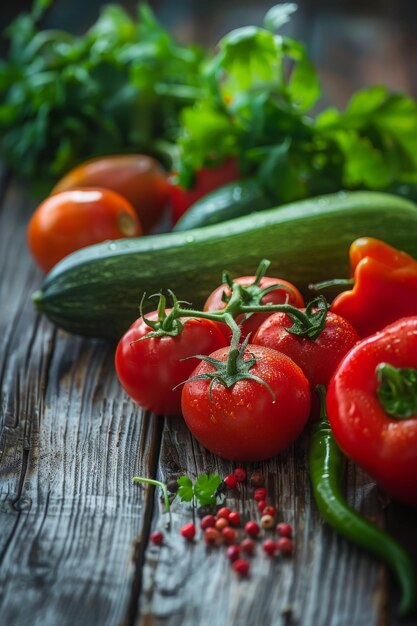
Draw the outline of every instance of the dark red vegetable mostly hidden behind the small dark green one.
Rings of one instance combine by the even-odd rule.
[[[227,185],[240,178],[236,159],[226,159],[221,165],[213,168],[202,168],[196,172],[195,184],[191,189],[184,189],[178,185],[176,176],[171,176],[171,210],[172,220],[177,222],[181,215],[197,200],[206,196],[210,191]]]

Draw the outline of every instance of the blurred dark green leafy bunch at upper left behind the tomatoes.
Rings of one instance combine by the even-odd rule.
[[[7,30],[3,158],[23,176],[53,182],[96,155],[159,155],[177,136],[180,111],[198,95],[203,51],[176,43],[143,3],[136,18],[104,6],[80,36],[41,30],[51,1],[37,0]]]

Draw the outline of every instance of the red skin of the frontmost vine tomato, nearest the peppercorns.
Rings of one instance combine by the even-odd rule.
[[[226,360],[229,348],[214,358]],[[310,411],[308,381],[301,369],[284,354],[248,346],[258,361],[250,372],[265,380],[275,393],[253,380],[244,379],[226,389],[209,380],[186,383],[182,412],[194,437],[208,450],[232,461],[260,461],[280,453],[301,433]],[[201,362],[193,375],[213,371]]]

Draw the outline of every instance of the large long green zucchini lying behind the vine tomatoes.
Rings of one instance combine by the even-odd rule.
[[[349,246],[360,236],[417,257],[417,206],[377,192],[339,193],[183,233],[97,244],[58,263],[33,300],[70,332],[117,339],[145,292],[171,289],[201,306],[223,269],[252,274],[268,258],[271,276],[307,293],[310,282],[347,276]]]

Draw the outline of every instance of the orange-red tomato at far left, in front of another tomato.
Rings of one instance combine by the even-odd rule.
[[[35,210],[27,230],[29,249],[45,272],[79,248],[141,234],[141,224],[130,202],[100,188],[49,196]]]

